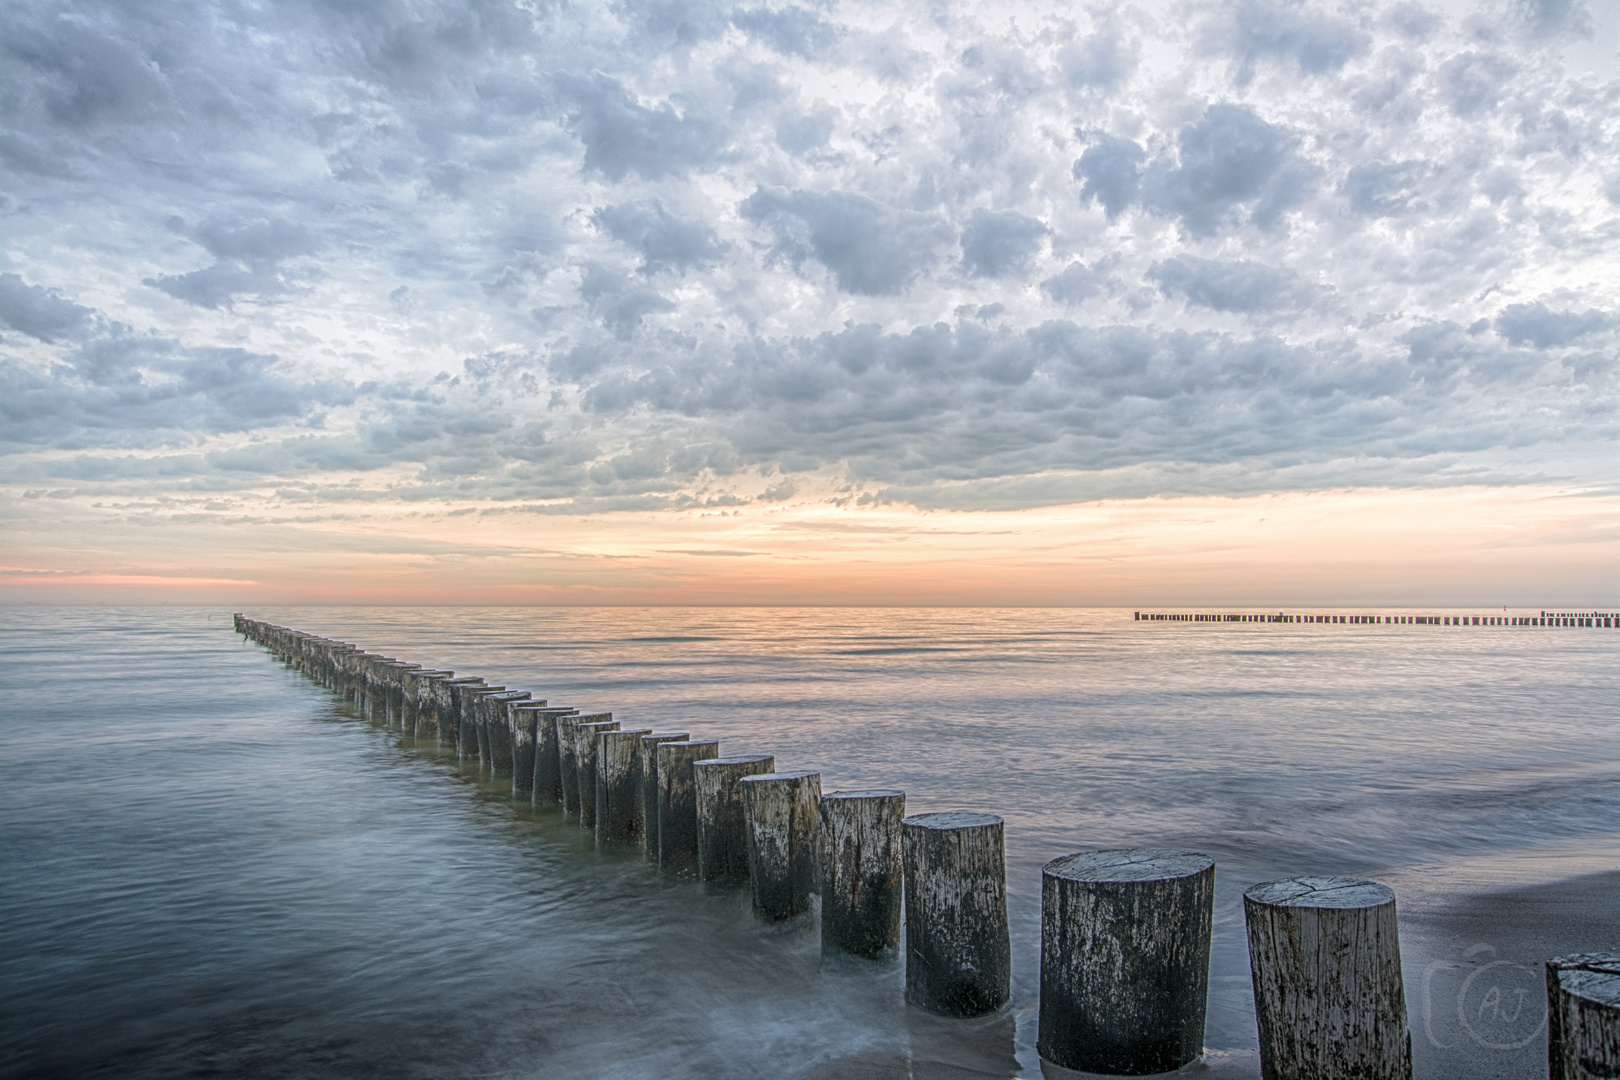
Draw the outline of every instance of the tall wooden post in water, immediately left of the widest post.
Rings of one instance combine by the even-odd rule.
[[[946,1017],[1008,1004],[1013,939],[1001,818],[970,811],[901,823],[906,1002]]]

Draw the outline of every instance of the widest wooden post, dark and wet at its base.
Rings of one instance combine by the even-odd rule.
[[[1157,847],[1081,852],[1040,876],[1040,1056],[1132,1077],[1199,1057],[1215,860]]]

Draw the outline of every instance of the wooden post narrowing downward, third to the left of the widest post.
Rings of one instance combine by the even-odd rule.
[[[821,774],[768,772],[737,785],[748,813],[755,913],[774,923],[808,912],[821,847]]]

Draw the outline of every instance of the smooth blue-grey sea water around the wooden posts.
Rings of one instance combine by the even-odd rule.
[[[1541,957],[1513,942],[1620,944],[1612,891],[1536,926],[1498,899],[1620,868],[1620,631],[1118,610],[253,614],[774,753],[821,769],[826,790],[1003,814],[1011,1007],[906,1009],[897,967],[823,965],[813,921],[765,928],[742,895],[593,850],[561,813],[358,719],[232,635],[228,612],[13,607],[5,1075],[1040,1077],[1040,865],[1087,847],[1217,858],[1204,1075],[1257,1075],[1241,915],[1256,881],[1396,887],[1426,1075],[1542,1075],[1534,996],[1523,1015],[1500,997],[1476,1014],[1484,984],[1461,973],[1490,960],[1523,997]]]

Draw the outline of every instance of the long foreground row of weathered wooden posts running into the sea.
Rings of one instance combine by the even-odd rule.
[[[995,814],[906,816],[904,792],[821,792],[818,772],[778,772],[771,755],[721,756],[719,743],[688,732],[622,730],[609,712],[549,706],[240,614],[235,627],[368,716],[510,774],[515,798],[562,806],[601,845],[640,844],[661,870],[747,884],[768,921],[808,912],[818,894],[823,954],[878,959],[904,933],[912,1006],[974,1017],[1008,1004]],[[1213,895],[1215,861],[1197,852],[1081,852],[1047,863],[1042,1057],[1116,1075],[1199,1057]],[[1244,894],[1244,915],[1267,1080],[1411,1075],[1387,886],[1264,882]],[[1620,957],[1565,957],[1547,972],[1552,1075],[1620,1075],[1581,1064],[1620,1062]]]

